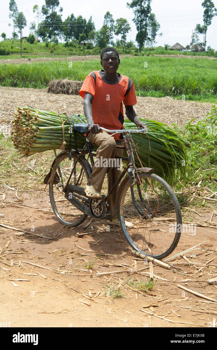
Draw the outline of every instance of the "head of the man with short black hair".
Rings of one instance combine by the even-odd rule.
[[[119,55],[113,47],[106,47],[100,54],[101,66],[107,73],[115,73],[120,64]]]

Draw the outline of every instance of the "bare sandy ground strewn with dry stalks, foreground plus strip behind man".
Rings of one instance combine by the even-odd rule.
[[[10,87],[1,87],[0,92],[2,125],[12,120],[16,105],[83,111],[79,96]],[[204,118],[210,108],[208,103],[143,97],[135,106],[139,117],[168,125]],[[4,152],[0,151],[0,161]],[[10,171],[18,179],[22,174],[16,162],[13,159]],[[29,173],[24,179],[32,183],[31,192],[18,191],[16,196],[16,179],[10,188],[1,180],[0,322],[10,327],[215,327],[217,286],[208,282],[217,276],[217,213],[212,205],[196,212],[193,206],[190,211],[182,208],[184,223],[196,223],[196,234],[182,233],[168,260],[171,269],[153,264],[157,284],[144,292],[131,289],[127,281],[147,280],[151,267],[131,254],[122,231],[115,226],[107,232],[105,220],[87,219],[75,229],[64,227],[51,211],[47,189],[43,191],[44,174],[36,174],[37,164],[30,160],[23,160],[23,166],[35,171],[35,176]],[[79,236],[81,233],[89,234]],[[185,253],[188,261],[180,256],[198,244],[196,250]],[[173,258],[175,254],[179,255]],[[97,257],[88,268],[88,261]],[[113,285],[124,297],[113,300],[106,296],[106,285]]]

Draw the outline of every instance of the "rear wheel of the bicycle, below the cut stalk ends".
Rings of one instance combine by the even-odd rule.
[[[72,168],[76,160],[78,159],[78,155],[79,154],[77,153],[72,153],[71,160],[69,160],[68,153],[63,154],[58,158],[59,170],[62,174],[64,186],[66,186]],[[91,171],[91,166],[86,161],[86,159],[84,157],[80,157],[73,171],[69,185],[85,188],[89,180]],[[72,227],[78,226],[85,221],[85,219],[87,218],[87,214],[81,212],[67,200],[63,191],[62,181],[59,175],[59,182],[55,184],[55,180],[57,180],[57,176],[55,175],[56,172],[57,174],[59,174],[57,163],[55,163],[55,165],[53,166],[53,171],[51,174],[49,184],[50,203],[53,212],[63,225]]]

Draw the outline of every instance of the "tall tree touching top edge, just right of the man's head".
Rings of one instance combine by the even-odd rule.
[[[127,7],[133,9],[135,15],[133,22],[137,29],[136,42],[139,45],[139,52],[142,51],[142,47],[148,37],[148,20],[151,13],[151,1],[152,0],[132,0],[131,3],[126,3]]]

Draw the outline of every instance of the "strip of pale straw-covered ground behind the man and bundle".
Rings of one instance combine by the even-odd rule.
[[[10,123],[16,106],[30,105],[41,110],[83,114],[80,96],[47,93],[46,89],[0,87],[0,123]],[[191,119],[205,118],[212,104],[175,100],[171,97],[137,97],[133,106],[139,118],[161,121],[169,126],[186,125]]]

